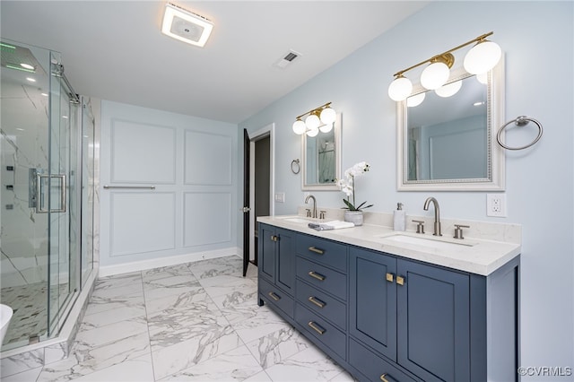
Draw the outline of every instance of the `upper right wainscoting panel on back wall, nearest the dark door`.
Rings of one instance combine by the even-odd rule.
[[[186,132],[185,183],[187,185],[230,186],[232,148],[229,135]]]

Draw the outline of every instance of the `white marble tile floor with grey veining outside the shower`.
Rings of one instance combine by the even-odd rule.
[[[70,357],[16,381],[352,381],[266,306],[238,256],[96,282]]]

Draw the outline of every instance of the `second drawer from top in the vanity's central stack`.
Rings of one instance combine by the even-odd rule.
[[[347,300],[347,276],[343,273],[297,257],[297,277],[341,300]]]

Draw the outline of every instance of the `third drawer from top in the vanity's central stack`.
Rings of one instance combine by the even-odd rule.
[[[340,329],[346,328],[346,305],[300,280],[297,280],[297,302],[325,317]]]

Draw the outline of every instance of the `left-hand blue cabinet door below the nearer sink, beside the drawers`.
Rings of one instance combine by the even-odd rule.
[[[350,259],[349,333],[396,360],[396,258],[351,247]]]

